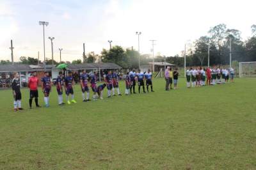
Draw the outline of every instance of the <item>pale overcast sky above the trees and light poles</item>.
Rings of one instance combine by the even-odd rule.
[[[180,54],[184,43],[207,35],[210,27],[227,24],[239,29],[244,39],[256,24],[255,0],[0,0],[0,59],[10,59],[13,40],[15,61],[20,56],[43,58],[43,28],[39,20],[49,22],[45,37],[54,36],[54,59],[59,61],[63,48],[65,61],[82,59],[86,53],[99,53],[113,45],[138,49],[141,31],[141,53],[152,48],[166,56]],[[45,39],[47,58],[51,42]]]

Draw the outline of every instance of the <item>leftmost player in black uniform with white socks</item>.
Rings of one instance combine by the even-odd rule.
[[[13,105],[14,111],[23,110],[21,107],[21,93],[20,93],[20,76],[19,73],[15,72],[14,78],[12,79],[12,93],[13,93]]]

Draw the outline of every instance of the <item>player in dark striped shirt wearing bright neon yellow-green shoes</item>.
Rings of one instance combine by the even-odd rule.
[[[65,83],[64,83],[64,87],[65,87],[65,91],[66,91],[66,95],[67,95],[67,104],[71,104],[69,101],[69,95],[71,95],[71,102],[73,104],[76,104],[76,100],[74,97],[74,78],[72,76],[72,72],[68,71],[68,76],[65,77],[64,79]]]

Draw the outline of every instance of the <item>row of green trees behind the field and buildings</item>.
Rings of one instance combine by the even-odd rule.
[[[210,50],[210,65],[228,65],[230,54],[230,41],[232,46],[233,61],[256,61],[256,25],[252,26],[252,36],[243,41],[241,31],[237,29],[228,29],[225,24],[219,24],[211,27],[208,35],[201,36],[195,42],[187,44],[186,60],[188,66],[207,65],[208,48]],[[116,63],[123,68],[138,68],[139,53],[133,49],[123,49],[115,46],[110,50],[103,49],[100,55],[88,53],[84,63],[111,62]],[[141,65],[148,65],[152,62],[149,54],[140,56]],[[180,56],[156,56],[156,62],[166,61],[175,65],[184,66],[184,53]],[[41,62],[41,61],[39,61]],[[10,63],[9,60],[1,60],[1,64]],[[36,65],[38,59],[20,57],[20,63]],[[51,65],[52,60],[46,59],[46,64]],[[66,63],[83,63],[81,59]],[[58,64],[54,61],[54,64]]]

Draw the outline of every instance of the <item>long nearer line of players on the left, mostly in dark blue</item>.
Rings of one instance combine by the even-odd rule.
[[[42,92],[44,93],[44,103],[45,107],[49,107],[49,95],[52,89],[51,77],[49,76],[49,72],[44,73],[44,77],[41,79],[42,81]],[[147,91],[149,91],[148,86],[150,86],[151,91],[153,91],[152,86],[152,73],[150,70],[148,72],[141,72],[139,70],[138,73],[133,69],[131,72],[127,72],[125,75],[125,95],[132,94],[135,92],[136,82],[138,82],[138,91],[140,93],[141,86],[143,88],[143,93],[145,91],[144,82],[146,81]],[[36,77],[36,72],[32,73],[32,76],[29,78],[28,87],[29,91],[29,108],[32,108],[33,98],[35,98],[36,107],[41,107],[38,105],[38,77]],[[89,84],[90,83],[90,84]],[[115,89],[118,95],[122,95],[119,89],[119,75],[116,72],[109,71],[108,74],[104,75],[104,83],[97,86],[97,72],[92,73],[91,75],[86,73],[86,70],[83,70],[80,76],[80,85],[82,91],[83,102],[90,101],[90,88],[93,91],[93,100],[97,100],[97,98],[103,99],[103,90],[107,87],[108,89],[108,98],[115,96]],[[68,72],[68,75],[64,77],[63,72],[59,72],[58,78],[56,79],[56,90],[58,92],[58,104],[65,105],[63,102],[63,88],[65,89],[65,94],[67,98],[67,104],[74,103],[76,104],[76,100],[74,98],[74,77],[72,76],[72,72]],[[13,89],[13,98],[14,98],[14,110],[19,111],[23,110],[21,107],[21,92],[20,92],[20,79],[19,73],[14,73],[14,78],[12,80],[12,89]],[[112,94],[111,94],[112,93]],[[71,97],[71,100],[70,100]],[[71,101],[71,102],[70,102]]]

